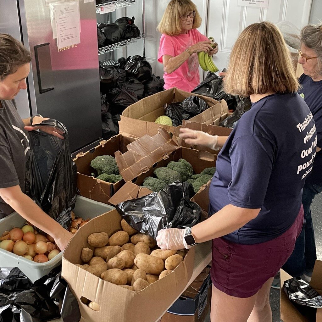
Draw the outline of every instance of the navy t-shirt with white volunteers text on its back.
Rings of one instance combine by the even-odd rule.
[[[316,151],[313,116],[298,94],[273,94],[252,103],[218,155],[210,213],[228,204],[261,208],[258,216],[224,239],[257,244],[294,223]]]

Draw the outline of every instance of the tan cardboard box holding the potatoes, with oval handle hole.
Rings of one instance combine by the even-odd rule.
[[[93,249],[87,243],[88,235],[107,232],[110,236],[121,230],[120,222],[117,210],[92,219],[75,233],[64,251],[62,277],[78,301],[81,322],[154,322],[184,291],[191,279],[194,247],[171,274],[138,293],[104,281],[75,265],[81,263],[83,247]],[[98,303],[100,310],[89,308],[90,301]]]

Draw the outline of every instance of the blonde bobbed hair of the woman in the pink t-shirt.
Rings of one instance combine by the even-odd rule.
[[[199,28],[201,26],[202,19],[198,13],[196,5],[191,0],[171,0],[166,7],[166,11],[162,16],[159,25],[157,26],[157,30],[168,36],[180,34],[180,17],[190,11],[196,12],[192,29]]]

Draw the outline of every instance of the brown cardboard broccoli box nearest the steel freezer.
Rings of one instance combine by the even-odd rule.
[[[121,180],[115,184],[97,180],[91,173],[94,169],[90,162],[97,156],[110,155],[114,156],[116,151],[127,151],[127,145],[135,141],[133,137],[126,137],[118,134],[111,137],[108,141],[101,141],[100,144],[87,151],[86,153],[77,154],[74,162],[77,166],[77,189],[78,194],[83,197],[107,204],[109,198],[124,184]]]

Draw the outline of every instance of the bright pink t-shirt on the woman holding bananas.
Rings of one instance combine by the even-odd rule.
[[[160,39],[158,62],[163,63],[163,55],[178,56],[190,46],[205,40],[208,38],[197,29],[191,29],[188,33],[177,36],[168,36],[163,33]],[[180,90],[191,92],[200,83],[198,54],[193,53],[171,74],[164,73],[164,81],[166,90],[177,87]]]

